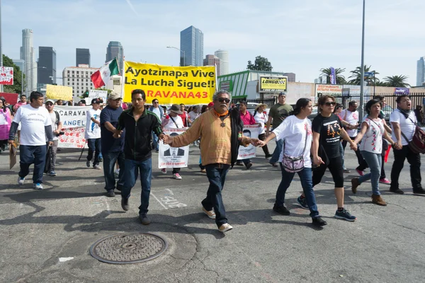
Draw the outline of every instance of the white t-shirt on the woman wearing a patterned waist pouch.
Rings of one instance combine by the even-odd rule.
[[[276,134],[276,140],[285,141],[285,154],[288,156],[300,156],[304,150],[304,167],[311,168],[312,160],[310,158],[310,149],[312,147],[312,122],[305,118],[298,119],[295,115],[288,116],[279,127],[273,129]],[[307,144],[305,139],[307,136]],[[305,149],[304,149],[305,145]],[[283,149],[279,156],[281,162],[283,158]]]

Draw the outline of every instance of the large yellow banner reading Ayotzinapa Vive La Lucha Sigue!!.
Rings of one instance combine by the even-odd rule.
[[[157,98],[161,105],[208,104],[215,92],[215,67],[169,67],[157,64],[124,62],[125,102],[131,92],[142,89],[146,103]]]

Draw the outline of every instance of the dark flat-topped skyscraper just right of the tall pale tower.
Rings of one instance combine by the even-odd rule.
[[[37,87],[56,83],[56,50],[53,47],[38,47]]]

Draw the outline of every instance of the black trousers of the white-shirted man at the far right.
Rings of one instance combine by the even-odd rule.
[[[410,180],[412,181],[413,190],[420,190],[421,185],[421,155],[414,154],[409,146],[403,146],[402,149],[392,149],[394,152],[394,163],[391,169],[391,186],[390,190],[399,189],[399,176],[404,166],[404,160],[410,164]]]

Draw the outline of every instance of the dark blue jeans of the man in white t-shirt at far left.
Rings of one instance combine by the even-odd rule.
[[[19,165],[21,171],[18,175],[25,178],[30,173],[30,165],[34,164],[33,183],[42,183],[42,173],[44,173],[46,164],[47,148],[42,146],[19,146]]]

